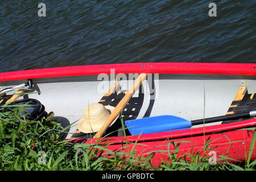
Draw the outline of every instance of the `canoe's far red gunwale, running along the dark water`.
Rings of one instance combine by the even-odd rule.
[[[0,81],[118,73],[170,73],[199,75],[256,75],[256,64],[246,63],[123,63],[31,69],[0,73]]]

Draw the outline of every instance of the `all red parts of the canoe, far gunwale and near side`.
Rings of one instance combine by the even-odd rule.
[[[179,75],[237,75],[237,76],[256,76],[256,64],[229,64],[229,63],[130,63],[130,64],[106,64],[106,65],[84,65],[76,67],[60,67],[34,69],[28,71],[16,71],[0,73],[0,81],[25,80],[33,78],[50,77],[72,77],[83,75],[98,75],[100,73],[110,74],[111,69],[115,73],[166,73]],[[170,159],[164,154],[174,150],[170,142],[180,144],[179,155],[191,154],[193,151],[201,151],[201,155],[208,155],[207,152],[215,151],[217,155],[228,156],[229,158],[244,161],[247,160],[249,153],[250,159],[256,159],[256,148],[250,151],[252,137],[255,129],[245,129],[255,127],[256,119],[234,122],[225,125],[207,126],[196,129],[170,131],[165,133],[145,134],[141,136],[128,136],[127,148],[122,148],[125,137],[112,137],[110,140],[103,140],[110,143],[110,150],[132,149],[137,154],[154,155],[154,165],[159,165],[162,160],[169,162]],[[183,143],[182,141],[187,141]],[[87,142],[95,142],[88,140]],[[133,148],[136,143],[135,148]],[[204,150],[207,145],[207,150]],[[210,157],[210,155],[209,155]]]

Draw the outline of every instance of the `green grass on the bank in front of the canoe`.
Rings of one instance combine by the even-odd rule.
[[[215,165],[209,164],[207,155],[193,154],[177,156],[180,143],[170,141],[174,150],[148,152],[147,157],[127,152],[111,151],[103,144],[71,143],[60,138],[60,123],[55,121],[31,121],[20,119],[18,109],[4,111],[7,105],[0,107],[0,170],[255,170],[256,160],[251,161],[256,132],[250,147],[249,158],[242,163],[229,163],[225,157],[218,158]],[[123,130],[124,131],[124,130]],[[184,141],[185,142],[185,141]],[[128,142],[123,142],[123,147]],[[104,153],[105,151],[105,153]],[[152,158],[162,152],[172,161],[152,166]],[[189,161],[188,161],[189,157]]]

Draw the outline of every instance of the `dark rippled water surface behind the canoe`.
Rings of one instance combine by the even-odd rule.
[[[46,17],[38,4],[46,3]],[[209,17],[209,3],[217,17]],[[256,63],[256,1],[0,1],[0,72],[135,62]]]

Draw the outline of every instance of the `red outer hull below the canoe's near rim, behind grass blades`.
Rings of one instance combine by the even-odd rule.
[[[214,157],[214,154],[218,163],[224,161],[234,163],[243,162],[248,159],[253,132],[254,130],[237,130],[206,136],[194,137],[192,135],[191,137],[180,139],[168,138],[164,140],[134,142],[133,144],[127,144],[127,146],[126,144],[123,144],[123,146],[121,144],[113,144],[107,148],[112,151],[124,151],[127,153],[136,150],[137,156],[141,157],[154,154],[152,158],[153,166],[159,166],[163,164],[162,162],[171,163],[172,159],[175,159],[175,154],[181,159],[184,159],[184,156],[186,156],[185,159],[187,161],[195,160],[196,154],[199,154],[199,156],[205,156],[205,159],[209,159],[208,162],[210,162],[211,157]],[[170,143],[170,141],[174,143]],[[175,147],[178,144],[179,150],[176,151]],[[250,159],[256,159],[256,149],[254,148],[251,152]],[[226,156],[230,159],[220,156]]]

